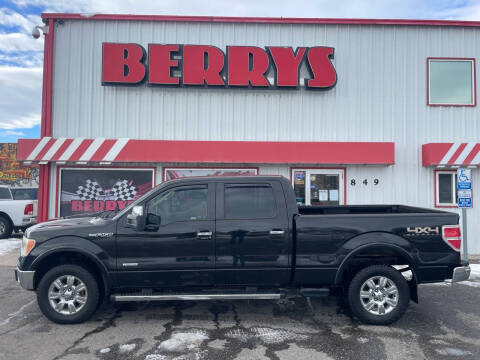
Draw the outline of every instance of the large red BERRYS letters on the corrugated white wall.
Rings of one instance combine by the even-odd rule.
[[[307,89],[337,82],[332,47],[227,46],[103,43],[103,85],[249,87],[295,89],[305,63]],[[267,74],[273,68],[273,84]]]

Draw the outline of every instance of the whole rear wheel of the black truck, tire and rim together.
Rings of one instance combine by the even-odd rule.
[[[374,265],[356,274],[348,287],[352,313],[366,324],[388,325],[402,317],[410,302],[403,275],[386,265]]]

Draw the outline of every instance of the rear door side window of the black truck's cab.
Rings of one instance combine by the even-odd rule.
[[[270,185],[225,184],[225,219],[273,218],[276,210]]]

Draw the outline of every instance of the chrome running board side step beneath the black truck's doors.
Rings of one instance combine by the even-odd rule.
[[[280,300],[286,293],[233,293],[233,294],[113,294],[113,302],[169,301],[169,300]]]

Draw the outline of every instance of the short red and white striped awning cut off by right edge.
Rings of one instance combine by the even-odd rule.
[[[422,145],[423,166],[476,167],[480,165],[480,143],[428,143]]]

